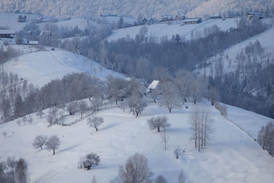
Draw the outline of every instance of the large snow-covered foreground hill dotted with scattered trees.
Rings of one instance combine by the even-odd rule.
[[[187,105],[189,109],[178,108],[169,113],[157,104],[150,104],[138,118],[119,108],[101,110],[92,114],[105,121],[98,132],[88,127],[86,117],[71,126],[47,127],[46,117],[34,117],[32,124],[21,127],[11,121],[0,125],[0,132],[8,132],[6,138],[0,137],[0,156],[25,158],[32,182],[90,182],[93,175],[98,182],[109,182],[118,175],[119,165],[125,164],[136,152],[147,156],[154,178],[164,175],[171,183],[177,182],[180,171],[188,182],[273,182],[274,159],[212,106],[209,107],[214,114],[214,138],[198,152],[190,142],[188,116],[193,105]],[[228,114],[232,120],[242,120],[249,112],[229,108]],[[242,114],[241,117],[237,117],[238,114]],[[166,132],[166,151],[160,133],[150,131],[147,125],[149,117],[158,115],[168,117],[171,123]],[[260,118],[258,116],[252,114],[252,117]],[[65,120],[79,117],[77,114]],[[54,156],[52,152],[33,149],[32,141],[39,134],[59,136],[61,145]],[[175,147],[186,149],[179,160],[173,154]],[[91,152],[101,157],[99,166],[90,171],[77,169],[79,158]]]

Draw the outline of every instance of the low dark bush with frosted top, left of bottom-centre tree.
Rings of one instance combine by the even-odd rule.
[[[92,167],[98,166],[100,162],[100,156],[95,153],[87,154],[86,157],[80,158],[78,169],[92,169]]]

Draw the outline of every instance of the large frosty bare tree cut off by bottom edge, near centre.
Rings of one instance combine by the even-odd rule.
[[[142,154],[134,154],[129,156],[125,163],[125,169],[123,166],[119,168],[119,179],[121,182],[138,182],[138,183],[149,183],[153,172],[148,167],[148,160]]]

